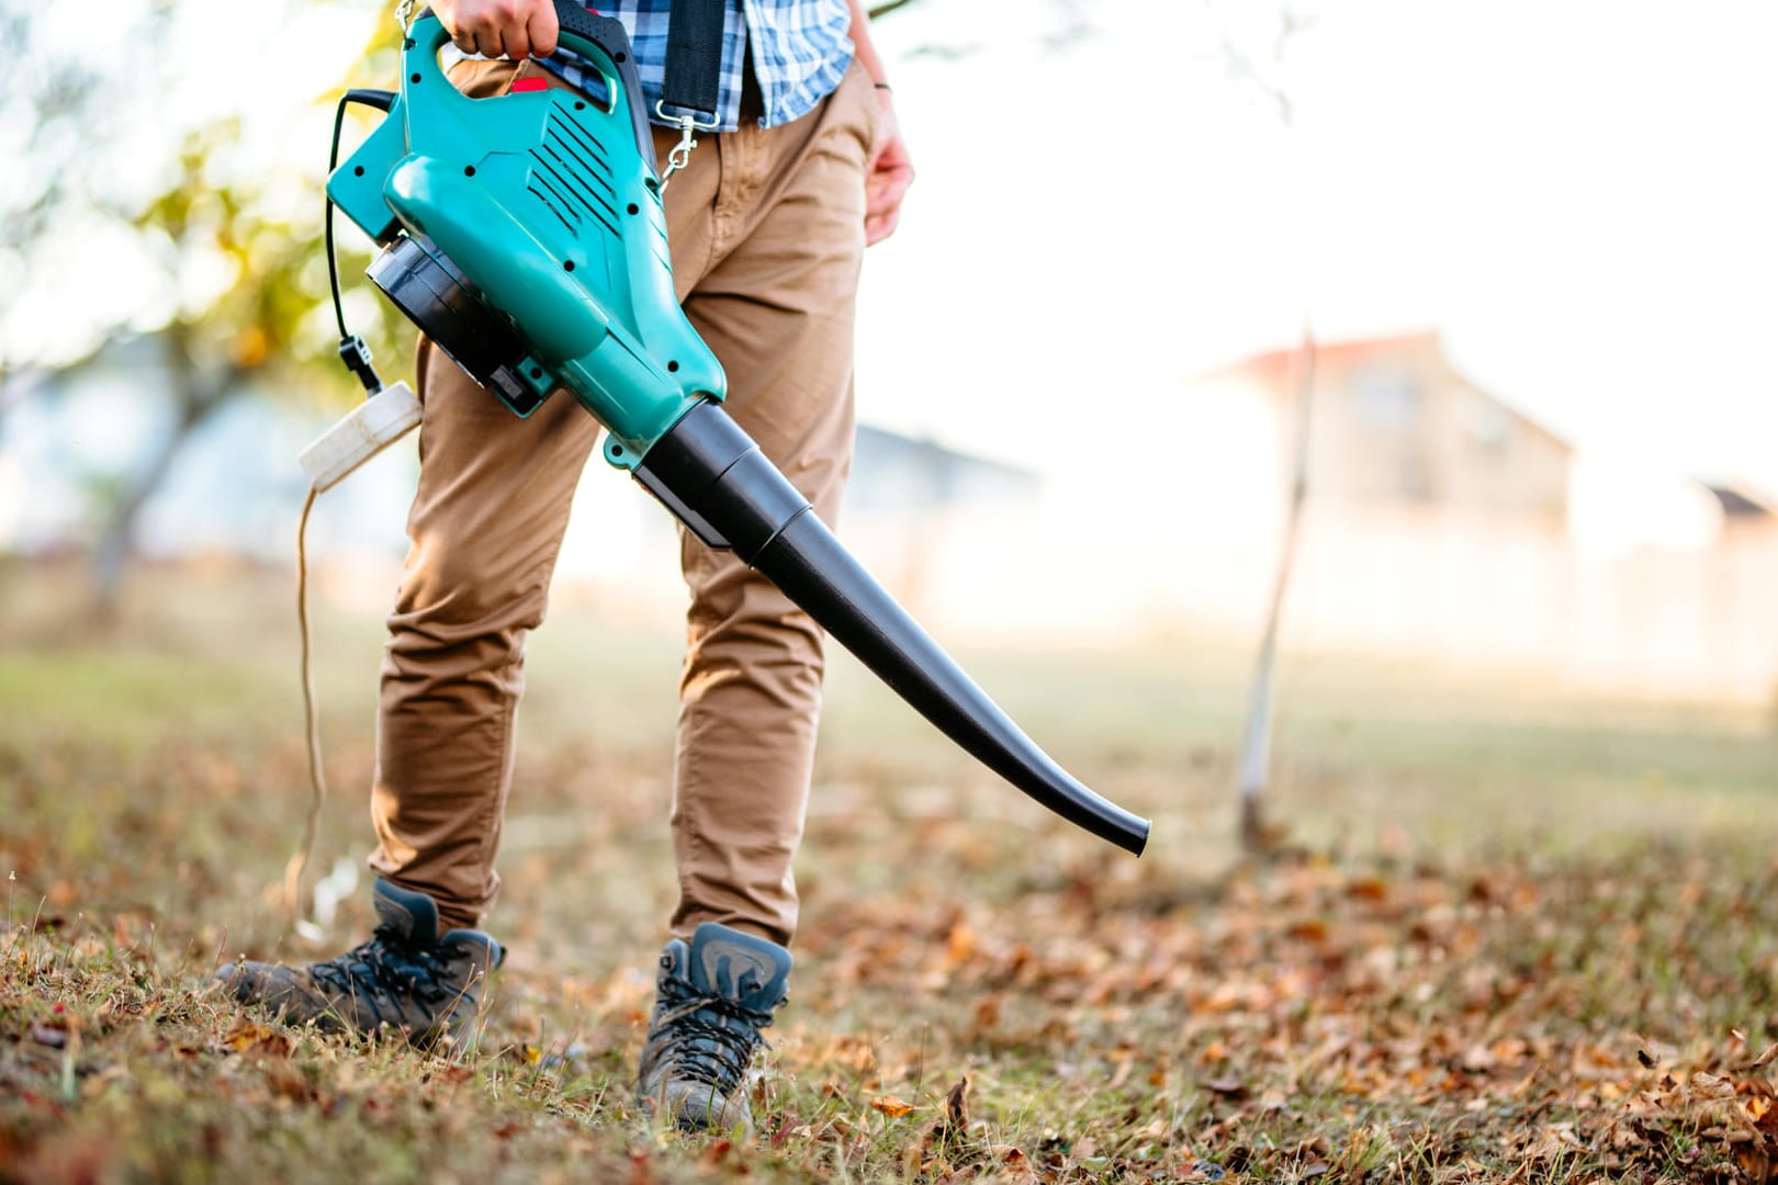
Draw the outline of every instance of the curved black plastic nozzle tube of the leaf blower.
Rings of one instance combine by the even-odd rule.
[[[1149,821],[1093,794],[1024,736],[720,405],[706,400],[686,412],[637,465],[637,480],[706,544],[733,547],[989,769],[1069,823],[1141,855]]]

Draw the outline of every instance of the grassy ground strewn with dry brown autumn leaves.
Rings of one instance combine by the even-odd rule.
[[[0,1181],[1762,1181],[1778,1158],[1778,787],[1751,709],[1291,656],[1278,851],[1239,856],[1236,647],[964,650],[1133,860],[1045,817],[836,661],[759,1139],[629,1098],[672,903],[676,643],[560,599],[532,641],[471,1039],[354,1041],[206,990],[318,938],[288,577],[146,572],[75,624],[0,569]],[[318,622],[366,855],[373,613]],[[313,879],[313,878],[311,878]]]

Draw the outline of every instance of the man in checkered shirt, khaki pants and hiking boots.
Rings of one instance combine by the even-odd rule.
[[[601,0],[660,98],[669,0]],[[727,407],[834,521],[852,455],[862,249],[887,238],[912,167],[864,0],[727,0],[720,133],[665,194],[677,295],[729,377]],[[590,7],[590,5],[589,5]],[[549,0],[432,5],[473,96],[541,76]],[[548,59],[548,60],[544,60]],[[656,155],[677,142],[656,128]],[[411,1038],[473,1018],[503,958],[478,927],[512,778],[525,634],[542,622],[569,503],[597,428],[555,398],[519,421],[430,343],[421,473],[382,664],[372,815],[375,936],[324,963],[219,974],[242,1002]],[[683,533],[692,590],[672,807],[679,904],[661,952],[638,1096],[686,1128],[750,1126],[745,1073],[784,1002],[821,684],[814,624],[731,553]]]

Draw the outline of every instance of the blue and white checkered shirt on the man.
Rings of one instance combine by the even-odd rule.
[[[587,7],[615,16],[629,30],[649,119],[669,123],[656,115],[654,103],[661,98],[667,75],[667,14],[672,2],[596,0]],[[725,9],[717,112],[722,131],[734,131],[741,121],[741,68],[749,50],[765,107],[759,124],[765,128],[807,115],[834,92],[852,64],[852,37],[846,36],[852,12],[845,0],[727,0]],[[574,53],[558,50],[544,66],[574,85],[585,84],[587,66]]]

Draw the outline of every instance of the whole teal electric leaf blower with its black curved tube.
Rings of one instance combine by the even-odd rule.
[[[597,73],[580,92],[471,99],[439,68],[437,18],[409,28],[388,117],[327,181],[382,247],[370,279],[516,414],[569,391],[606,428],[605,458],[704,544],[733,547],[990,769],[1140,855],[1149,823],[1026,737],[722,410],[722,366],[674,295],[629,39],[578,4],[557,12]]]

